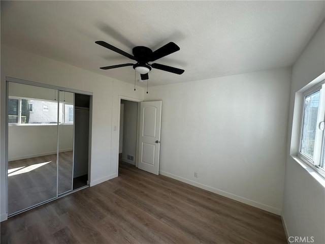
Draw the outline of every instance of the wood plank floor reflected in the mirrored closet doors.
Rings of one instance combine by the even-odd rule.
[[[59,153],[58,194],[72,190],[72,154]],[[56,157],[53,154],[8,162],[9,214],[56,197]]]

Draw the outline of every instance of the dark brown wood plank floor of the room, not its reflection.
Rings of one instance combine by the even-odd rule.
[[[287,243],[261,209],[125,163],[119,177],[1,223],[1,243]]]

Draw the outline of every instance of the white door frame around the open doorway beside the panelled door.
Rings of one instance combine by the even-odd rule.
[[[118,164],[119,164],[119,160],[118,160],[118,154],[119,154],[119,144],[120,144],[120,118],[121,118],[121,100],[126,100],[126,101],[131,101],[131,102],[137,102],[138,103],[138,118],[137,118],[137,150],[136,150],[136,167],[138,168],[138,150],[139,150],[139,124],[140,124],[140,106],[139,103],[143,102],[143,99],[138,99],[138,98],[131,98],[131,97],[126,97],[126,96],[122,96],[122,95],[118,95],[118,119],[117,119],[117,141],[116,141],[116,173],[118,176]]]

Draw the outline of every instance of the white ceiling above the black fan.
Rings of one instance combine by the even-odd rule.
[[[291,66],[324,16],[325,1],[1,1],[1,42],[134,83],[132,67],[99,69],[134,61],[94,42],[132,54],[173,41],[155,63],[185,72],[152,69],[161,85]]]

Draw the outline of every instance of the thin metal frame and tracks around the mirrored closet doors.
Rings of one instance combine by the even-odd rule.
[[[62,91],[62,92],[70,92],[70,93],[78,93],[78,94],[83,94],[83,95],[88,95],[90,96],[90,112],[91,112],[91,108],[92,108],[92,104],[91,104],[91,100],[92,100],[92,93],[91,92],[85,92],[83,90],[77,90],[77,89],[72,89],[72,88],[67,88],[67,87],[61,87],[61,86],[56,86],[56,85],[50,85],[50,84],[44,84],[44,83],[39,83],[39,82],[35,82],[35,81],[29,81],[29,80],[23,80],[23,79],[17,79],[17,78],[13,78],[13,77],[8,77],[6,76],[6,197],[7,197],[7,203],[6,203],[6,212],[7,212],[7,215],[8,215],[8,98],[9,98],[9,82],[13,82],[13,83],[19,83],[19,84],[25,84],[25,85],[32,85],[32,86],[38,86],[38,87],[43,87],[43,88],[50,88],[50,89],[54,89],[54,90],[57,90],[58,91],[58,106],[59,106],[59,91]],[[90,113],[91,114],[91,113]],[[59,117],[59,111],[57,113],[57,119]],[[58,121],[58,120],[57,120]],[[74,121],[75,122],[75,121]],[[89,119],[89,138],[91,138],[91,118]],[[75,134],[75,130],[73,130],[73,137],[74,137],[74,134]],[[15,216],[15,215],[18,215],[20,214],[21,212],[24,212],[26,210],[29,210],[29,209],[32,209],[32,208],[35,208],[37,206],[40,206],[42,204],[45,204],[47,202],[50,202],[50,201],[53,201],[59,197],[62,197],[62,196],[66,196],[72,192],[74,192],[73,190],[68,192],[68,193],[63,193],[63,194],[60,194],[58,195],[58,143],[59,143],[59,140],[58,140],[58,137],[59,137],[59,132],[58,132],[58,124],[57,124],[57,159],[56,159],[56,197],[54,198],[50,198],[44,202],[40,202],[38,204],[35,204],[35,205],[32,205],[30,207],[27,207],[25,209],[21,209],[17,212],[14,212],[13,214],[11,215],[8,215],[8,217],[12,217],[12,216]],[[91,140],[89,140],[89,149],[91,147]],[[74,142],[73,142],[73,148],[74,148]],[[89,155],[90,155],[90,150],[89,150]],[[90,162],[90,161],[89,161]],[[90,173],[90,164],[88,165],[88,173]],[[88,176],[89,177],[89,176]],[[73,179],[73,178],[72,178]]]

